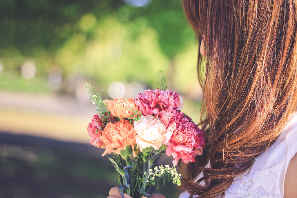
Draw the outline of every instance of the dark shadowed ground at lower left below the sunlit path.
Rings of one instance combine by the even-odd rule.
[[[87,144],[1,132],[0,197],[108,197],[117,180],[102,153]],[[176,191],[167,183],[158,192],[174,198]]]

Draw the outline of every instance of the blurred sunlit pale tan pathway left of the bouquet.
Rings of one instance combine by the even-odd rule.
[[[0,130],[88,143],[86,128],[96,113],[75,96],[0,91]]]

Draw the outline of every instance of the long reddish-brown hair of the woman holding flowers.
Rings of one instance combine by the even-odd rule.
[[[198,79],[207,147],[182,185],[192,195],[223,196],[296,107],[296,0],[183,0],[183,7],[205,45]]]

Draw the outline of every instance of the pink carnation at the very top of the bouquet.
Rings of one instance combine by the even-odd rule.
[[[145,90],[144,94],[137,94],[135,103],[139,107],[142,115],[158,114],[162,110],[181,110],[183,98],[170,89]]]

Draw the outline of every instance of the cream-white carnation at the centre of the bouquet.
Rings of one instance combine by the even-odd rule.
[[[142,152],[147,147],[160,149],[166,134],[166,126],[153,115],[142,115],[140,120],[134,121],[136,144]]]

